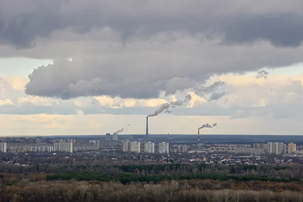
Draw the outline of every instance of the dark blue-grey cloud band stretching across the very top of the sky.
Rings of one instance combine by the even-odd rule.
[[[200,0],[190,3],[41,0],[18,4],[19,9],[12,1],[0,1],[0,42],[17,47],[33,46],[37,37],[48,37],[64,28],[83,34],[93,28],[111,27],[120,33],[123,41],[180,30],[223,34],[228,43],[263,39],[278,46],[297,46],[303,39],[300,1],[256,3],[251,0],[243,4],[220,0],[206,4]]]

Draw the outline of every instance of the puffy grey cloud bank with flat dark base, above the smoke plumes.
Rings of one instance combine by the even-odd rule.
[[[96,95],[140,99],[158,97],[160,91],[174,94],[177,90],[195,86],[195,80],[178,77],[186,69],[167,75],[168,67],[158,67],[156,71],[153,67],[133,69],[121,65],[127,64],[103,65],[98,58],[54,61],[54,64],[39,67],[29,75],[30,82],[25,86],[25,92],[62,99]]]

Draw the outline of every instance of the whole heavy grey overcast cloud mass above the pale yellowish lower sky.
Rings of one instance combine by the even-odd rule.
[[[301,1],[0,3],[0,54],[55,60],[29,75],[31,95],[156,98],[302,62]]]

